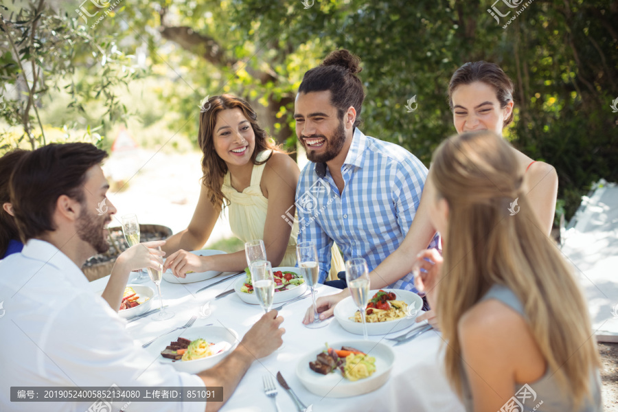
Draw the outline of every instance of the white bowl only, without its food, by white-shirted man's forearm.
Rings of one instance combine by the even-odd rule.
[[[204,339],[205,341],[215,343],[216,345],[225,345],[227,349],[218,354],[196,359],[195,361],[174,361],[173,359],[163,358],[163,356],[161,356],[161,351],[170,345],[170,342],[174,342],[179,338],[189,339],[190,341]],[[231,354],[231,352],[238,345],[238,342],[240,342],[238,339],[238,333],[234,330],[222,328],[221,326],[198,326],[196,328],[177,330],[176,332],[161,336],[146,349],[152,354],[152,356],[158,355],[160,363],[172,365],[174,369],[181,372],[197,374],[205,369],[214,367],[214,365],[222,361],[225,356]]]

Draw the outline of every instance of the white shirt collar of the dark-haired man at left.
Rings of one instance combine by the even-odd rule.
[[[30,239],[23,246],[21,253],[32,260],[43,262],[43,266],[49,264],[58,269],[69,282],[75,286],[88,288],[88,279],[80,268],[65,253],[53,244],[45,240]]]

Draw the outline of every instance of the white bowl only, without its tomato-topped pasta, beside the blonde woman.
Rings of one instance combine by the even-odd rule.
[[[367,323],[367,334],[371,335],[379,335],[379,334],[387,334],[391,332],[398,332],[399,330],[403,330],[408,326],[411,326],[415,323],[415,319],[418,314],[421,313],[421,308],[423,307],[423,299],[414,292],[410,290],[401,290],[401,289],[380,289],[385,292],[393,292],[397,296],[397,300],[401,300],[406,302],[408,305],[408,310],[410,312],[410,316],[403,317],[400,319],[396,319],[394,321],[386,321],[386,322],[375,322],[375,323]],[[369,299],[373,297],[378,290],[370,290],[369,291]],[[416,311],[414,311],[416,309]],[[347,330],[347,332],[352,332],[354,334],[363,334],[363,323],[354,322],[350,320],[350,317],[353,317],[358,308],[352,297],[346,297],[343,299],[337,306],[334,308],[334,317],[339,321],[343,329]]]

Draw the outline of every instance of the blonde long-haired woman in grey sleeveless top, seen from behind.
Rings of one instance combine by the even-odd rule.
[[[488,130],[434,154],[423,198],[444,249],[422,251],[415,273],[446,342],[446,375],[466,411],[511,411],[515,400],[518,411],[600,411],[588,309],[522,183],[512,147]]]

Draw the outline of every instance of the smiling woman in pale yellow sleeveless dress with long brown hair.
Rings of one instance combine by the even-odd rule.
[[[282,218],[294,205],[299,168],[279,150],[258,125],[249,103],[232,95],[211,97],[200,113],[198,142],[203,152],[200,198],[187,229],[170,237],[163,247],[164,269],[177,277],[188,271],[244,271],[244,251],[197,256],[222,207],[229,207],[229,224],[243,242],[264,240],[273,266],[294,266],[298,225]],[[290,209],[291,214],[294,208]]]

